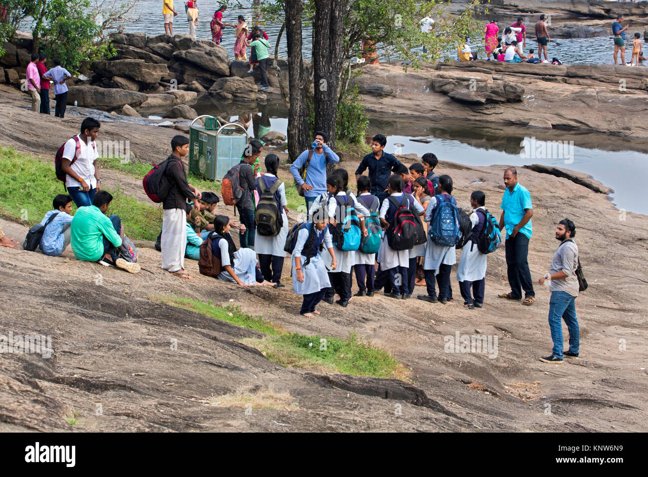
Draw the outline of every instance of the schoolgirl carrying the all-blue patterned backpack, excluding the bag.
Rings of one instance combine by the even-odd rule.
[[[433,221],[434,214],[439,212],[438,208],[441,201],[450,201],[455,206],[457,201],[452,197],[452,178],[444,174],[439,177],[439,195],[435,195],[430,199],[428,208],[425,212],[425,221]],[[432,227],[432,224],[430,224]],[[444,247],[437,245],[432,241],[428,234],[428,242],[425,247],[425,262],[423,263],[423,271],[425,274],[425,284],[428,287],[427,295],[419,295],[419,300],[431,303],[446,304],[452,300],[452,288],[450,287],[450,271],[452,265],[457,263],[457,254],[454,245]],[[439,296],[434,289],[434,279],[436,276],[437,284],[439,285]]]

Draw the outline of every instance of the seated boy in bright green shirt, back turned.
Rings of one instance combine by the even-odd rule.
[[[138,273],[139,265],[119,258],[117,249],[122,244],[124,226],[117,215],[106,217],[113,196],[108,191],[97,191],[91,206],[76,210],[71,225],[72,251],[78,260],[113,265],[130,273]]]

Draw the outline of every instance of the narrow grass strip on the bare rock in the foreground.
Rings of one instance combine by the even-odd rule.
[[[238,306],[214,306],[211,302],[203,303],[178,297],[149,298],[268,335],[261,339],[242,339],[242,343],[259,349],[266,358],[286,367],[404,380],[410,375],[389,352],[356,336],[355,333],[350,333],[346,339],[306,336],[290,333],[277,324],[264,321],[262,317],[251,317],[242,313]]]

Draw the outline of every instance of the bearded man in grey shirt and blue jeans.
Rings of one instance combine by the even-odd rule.
[[[562,219],[556,227],[556,239],[561,241],[553,254],[549,273],[542,276],[538,282],[544,285],[545,280],[551,280],[549,291],[549,328],[553,339],[551,356],[540,358],[544,363],[562,363],[562,356],[577,359],[579,347],[579,326],[576,317],[575,300],[578,296],[578,247],[573,236],[576,226],[570,219]],[[564,319],[569,330],[569,350],[562,352],[562,321]]]

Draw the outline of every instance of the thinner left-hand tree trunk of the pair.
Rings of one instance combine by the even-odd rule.
[[[301,0],[286,0],[286,43],[288,43],[288,162],[292,163],[310,143],[308,132],[308,108],[305,90],[308,87],[304,77],[301,58],[301,16],[304,5]]]

